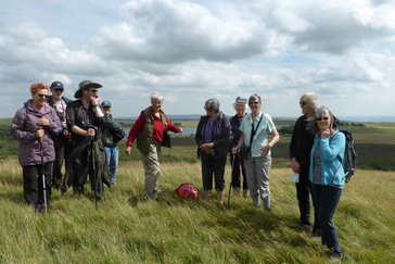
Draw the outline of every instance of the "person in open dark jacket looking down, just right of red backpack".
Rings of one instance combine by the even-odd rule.
[[[230,123],[228,116],[219,111],[217,99],[208,99],[204,104],[204,109],[206,115],[203,115],[199,121],[195,134],[197,156],[202,161],[203,190],[205,198],[208,199],[214,178],[217,198],[219,203],[222,204]]]

